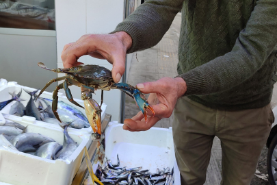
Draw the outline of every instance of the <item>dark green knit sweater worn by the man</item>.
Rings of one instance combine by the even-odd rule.
[[[120,23],[129,53],[153,47],[182,10],[179,76],[190,99],[210,108],[261,108],[272,98],[276,0],[149,0]]]

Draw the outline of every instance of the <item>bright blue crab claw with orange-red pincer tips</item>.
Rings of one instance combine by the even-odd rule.
[[[153,107],[150,106],[150,104],[148,103],[148,101],[146,100],[144,95],[137,88],[135,88],[135,90],[133,91],[133,97],[135,99],[135,102],[137,102],[137,106],[142,111],[142,114],[144,114],[144,119],[145,119],[145,122],[147,123],[147,110],[146,109],[148,108],[149,110],[151,110],[151,112],[153,112],[153,116],[155,116],[155,111],[154,111]]]

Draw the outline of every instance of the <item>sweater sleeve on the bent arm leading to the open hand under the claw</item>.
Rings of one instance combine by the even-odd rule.
[[[258,71],[277,45],[277,1],[259,0],[233,49],[179,75],[185,95],[207,95],[233,88]]]

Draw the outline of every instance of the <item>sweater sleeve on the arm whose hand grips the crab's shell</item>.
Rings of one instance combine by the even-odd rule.
[[[176,14],[182,8],[183,0],[149,0],[140,5],[120,23],[114,32],[127,32],[132,46],[127,53],[148,49],[166,34]]]

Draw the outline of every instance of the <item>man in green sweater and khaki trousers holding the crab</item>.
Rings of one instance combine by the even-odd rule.
[[[119,82],[126,53],[156,45],[182,10],[179,76],[137,84],[151,93],[155,117],[142,112],[124,130],[148,130],[174,110],[173,137],[182,184],[204,184],[214,136],[222,143],[222,184],[250,184],[274,115],[276,0],[150,0],[107,35],[64,47],[64,67],[83,55],[113,64]],[[150,114],[150,112],[148,112]]]

